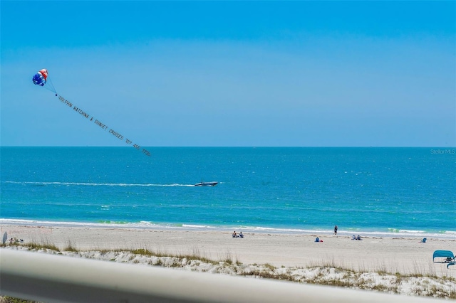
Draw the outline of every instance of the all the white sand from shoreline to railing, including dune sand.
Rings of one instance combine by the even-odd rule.
[[[73,257],[161,265],[175,269],[226,275],[280,277],[296,282],[329,284],[354,289],[375,289],[413,296],[454,297],[456,265],[433,263],[435,250],[456,252],[456,239],[363,238],[326,235],[244,233],[232,238],[231,231],[158,230],[138,228],[94,228],[41,225],[1,225],[1,235],[26,243],[68,246],[78,252],[39,250]],[[9,243],[7,241],[6,243]],[[2,249],[28,250],[26,245]],[[204,262],[177,257],[136,255],[128,251],[145,249],[160,255],[198,255]],[[115,251],[117,250],[117,251]],[[240,262],[240,263],[239,263]],[[345,268],[347,270],[341,270]],[[354,271],[354,272],[353,272]],[[362,272],[362,273],[357,273]],[[389,272],[390,274],[386,274]],[[395,275],[403,274],[402,277]],[[405,277],[404,275],[413,276]]]

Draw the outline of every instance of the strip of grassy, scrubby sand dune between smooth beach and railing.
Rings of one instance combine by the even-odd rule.
[[[405,275],[400,272],[388,272],[384,263],[379,263],[374,271],[364,271],[345,267],[343,261],[334,259],[322,259],[319,262],[312,262],[307,267],[275,267],[269,263],[244,265],[229,250],[224,255],[219,255],[217,260],[213,260],[203,255],[197,248],[171,254],[164,250],[154,250],[147,247],[118,250],[77,250],[76,245],[69,241],[62,250],[48,242],[14,243],[13,245],[2,246],[16,246],[18,249],[21,247],[32,251],[45,250],[48,253],[78,255],[78,257],[111,262],[179,268],[313,285],[330,285],[393,294],[456,299],[455,278],[437,277],[432,267],[425,270],[418,265],[415,267],[415,272]]]

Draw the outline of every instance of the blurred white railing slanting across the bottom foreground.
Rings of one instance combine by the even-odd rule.
[[[442,302],[0,249],[0,294],[42,302]]]

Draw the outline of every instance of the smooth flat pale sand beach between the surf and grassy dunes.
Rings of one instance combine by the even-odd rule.
[[[239,232],[239,230],[238,230]],[[77,250],[147,249],[170,255],[201,255],[212,260],[231,258],[242,264],[275,267],[331,265],[361,272],[399,272],[456,277],[456,268],[433,263],[435,250],[456,251],[456,240],[428,238],[375,238],[351,240],[347,235],[244,233],[232,238],[232,231],[155,230],[137,228],[93,228],[42,225],[2,225],[1,235],[23,239],[24,243],[49,243],[63,250],[71,244]]]

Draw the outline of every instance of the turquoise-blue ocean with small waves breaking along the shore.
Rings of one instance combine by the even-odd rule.
[[[452,148],[147,150],[1,147],[0,223],[456,238]]]

